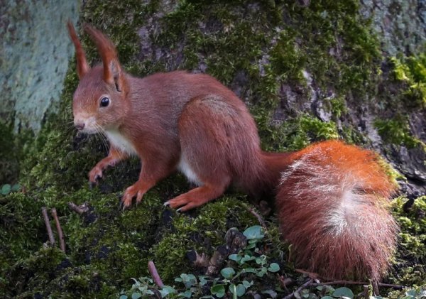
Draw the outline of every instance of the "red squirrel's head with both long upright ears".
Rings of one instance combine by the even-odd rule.
[[[130,109],[127,99],[129,85],[119,62],[114,44],[101,31],[84,25],[84,31],[94,41],[102,64],[89,67],[74,26],[68,21],[68,31],[75,45],[77,74],[80,83],[75,90],[72,112],[76,128],[85,133],[118,129]]]

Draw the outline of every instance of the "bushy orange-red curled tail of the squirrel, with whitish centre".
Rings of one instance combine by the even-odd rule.
[[[376,154],[340,141],[294,153],[276,205],[297,266],[323,278],[380,280],[395,251],[395,190]]]

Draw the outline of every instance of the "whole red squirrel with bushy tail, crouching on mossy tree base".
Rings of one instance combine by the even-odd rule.
[[[75,28],[70,21],[67,26],[80,78],[72,102],[75,127],[102,133],[110,143],[108,156],[90,170],[90,183],[134,155],[143,165],[124,192],[124,208],[175,170],[197,185],[165,202],[181,212],[219,197],[229,185],[254,197],[273,192],[297,265],[327,278],[385,275],[398,232],[386,209],[395,186],[373,152],[342,141],[293,153],[262,151],[246,105],[213,77],[184,71],[133,77],[111,40],[84,25],[102,58],[89,67]]]

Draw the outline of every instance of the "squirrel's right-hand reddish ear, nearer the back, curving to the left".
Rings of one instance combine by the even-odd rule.
[[[84,24],[84,31],[89,33],[102,57],[102,62],[104,63],[104,81],[114,84],[117,91],[121,92],[125,84],[124,75],[114,44],[101,31],[88,24]]]

